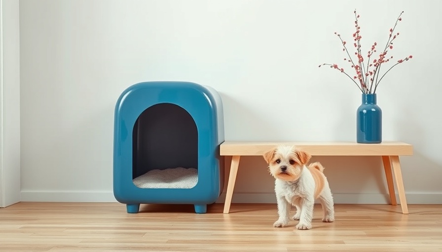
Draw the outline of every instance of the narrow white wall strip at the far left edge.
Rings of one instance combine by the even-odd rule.
[[[0,0],[0,207],[20,201],[19,1]]]

